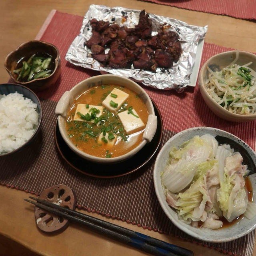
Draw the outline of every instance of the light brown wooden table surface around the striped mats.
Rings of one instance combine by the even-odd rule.
[[[205,41],[239,50],[256,52],[256,23],[203,12],[141,2],[137,0],[1,0],[0,1],[0,60],[22,42],[32,40],[40,30],[52,9],[84,16],[90,4],[122,6],[145,9],[146,12],[168,16],[188,24],[205,26],[208,32]],[[0,67],[0,83],[7,82],[9,76]],[[1,171],[1,170],[0,170]],[[148,255],[114,240],[71,224],[65,232],[46,235],[35,225],[34,208],[23,201],[29,194],[0,186],[0,256],[12,255]],[[87,213],[87,212],[86,212]],[[87,213],[88,214],[88,213]],[[126,222],[107,219],[98,214],[90,214],[120,226],[142,232],[172,244],[188,248],[195,256],[223,255],[216,250],[205,248],[158,232],[144,230]],[[256,252],[254,250],[254,256]]]

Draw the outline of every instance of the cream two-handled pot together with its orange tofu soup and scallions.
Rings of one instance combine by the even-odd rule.
[[[88,78],[60,98],[60,134],[78,156],[98,163],[121,162],[152,140],[157,117],[148,94],[115,75]]]

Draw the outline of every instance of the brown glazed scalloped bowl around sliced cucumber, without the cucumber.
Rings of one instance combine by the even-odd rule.
[[[18,62],[24,58],[27,60],[32,54],[36,52],[47,53],[52,56],[55,60],[55,67],[52,74],[46,78],[37,78],[28,82],[20,82],[16,80],[16,74],[14,74],[14,70],[17,68]],[[56,46],[50,43],[32,40],[25,42],[18,46],[16,50],[10,52],[4,60],[4,67],[9,73],[10,77],[17,84],[22,84],[30,88],[33,91],[41,91],[50,86],[54,85],[60,76],[60,53]]]

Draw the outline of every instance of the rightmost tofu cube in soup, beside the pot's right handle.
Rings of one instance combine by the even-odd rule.
[[[132,112],[136,115],[137,112],[133,109]],[[142,130],[142,128],[145,126],[144,122],[140,119],[140,117],[136,117],[132,114],[128,114],[128,110],[118,113],[117,114],[122,125],[124,126],[124,130],[127,134],[132,134],[134,132],[138,132],[139,130]]]

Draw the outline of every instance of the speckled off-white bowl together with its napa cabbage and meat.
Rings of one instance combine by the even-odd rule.
[[[207,151],[206,148],[210,149],[210,147],[212,147],[212,149]],[[204,148],[204,150],[202,150],[202,148]],[[200,154],[195,156],[197,151],[200,152]],[[186,158],[184,158],[185,155]],[[194,158],[192,160],[193,156]],[[192,180],[186,185],[185,178],[190,176],[192,162],[185,163],[185,161],[189,161],[190,158],[190,160],[196,162],[198,158],[204,157],[207,158],[206,162],[198,162],[199,164],[196,167],[195,175],[193,174]],[[226,169],[228,166],[227,162],[233,159],[233,157],[239,157],[238,167],[241,169],[228,176],[230,170]],[[180,160],[178,160],[179,164],[175,162],[178,158],[180,158]],[[226,201],[229,202],[231,192],[227,194],[227,200],[222,200],[225,194],[225,189],[222,190],[222,188],[226,188],[224,185],[220,186],[220,181],[218,180],[218,177],[219,179],[221,177],[219,166],[222,166],[222,162],[224,169],[224,173],[222,173],[224,175],[222,176],[224,177],[224,181],[222,184],[230,185],[229,192],[234,188],[232,179],[234,178],[233,180],[236,181],[239,176],[241,180],[241,183],[236,183],[241,184],[241,187],[237,190],[238,193],[235,194],[234,201],[232,202],[232,200],[230,200],[231,204],[225,203]],[[176,164],[176,167],[183,164],[185,167],[182,168],[182,170],[186,169],[186,176],[182,176],[182,172],[178,172],[178,169],[174,168],[174,164]],[[249,208],[251,205],[253,205],[254,208],[256,206],[255,197],[252,196],[256,189],[255,164],[255,152],[245,142],[233,134],[209,127],[190,128],[170,138],[158,153],[153,174],[156,196],[165,214],[172,223],[182,231],[206,242],[228,242],[248,234],[256,227],[255,214],[251,219],[247,218],[251,217],[248,215],[250,214]],[[173,168],[170,168],[171,166]],[[247,168],[245,168],[245,166],[247,166]],[[244,170],[243,174],[242,170]],[[245,170],[248,170],[248,172],[245,173]],[[172,173],[172,177],[169,180],[170,184],[168,184],[166,174],[172,171],[176,171],[177,173]],[[180,176],[177,176],[178,173]],[[213,176],[214,174],[216,174],[216,176]],[[248,178],[244,179],[245,176]],[[182,184],[186,187],[178,188],[178,186]],[[198,184],[200,186],[197,186]],[[215,192],[213,188],[216,188]],[[238,187],[236,186],[235,188]],[[170,190],[172,190],[172,192]],[[211,193],[207,191],[211,191]],[[240,197],[242,194],[243,196]],[[204,198],[202,196],[204,196]],[[212,205],[210,204],[211,200],[213,202]],[[172,203],[174,205],[172,205]],[[190,203],[193,203],[193,205]],[[172,205],[172,207],[170,205]],[[224,209],[223,205],[227,207],[228,210]],[[176,209],[174,207],[176,207]],[[204,211],[203,213],[200,212],[201,208],[206,212],[206,218],[211,217],[212,224],[218,226],[210,227],[209,221],[206,222],[206,218],[203,219]],[[212,210],[213,214],[218,214],[218,216],[211,215]],[[200,214],[198,214],[199,212]],[[198,221],[196,218],[202,220]],[[190,220],[194,222],[190,222]],[[210,218],[208,220],[210,220]],[[208,227],[206,228],[206,226]]]

